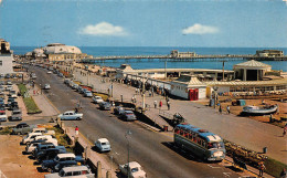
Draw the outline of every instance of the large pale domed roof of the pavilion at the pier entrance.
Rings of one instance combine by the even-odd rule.
[[[82,51],[76,46],[65,45],[61,43],[53,43],[44,48],[44,53],[45,54],[66,54],[66,53],[81,54]]]

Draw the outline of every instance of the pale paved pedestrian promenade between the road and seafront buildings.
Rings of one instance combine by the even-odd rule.
[[[82,73],[82,74],[81,74]],[[84,74],[83,74],[84,73]],[[74,77],[83,84],[94,86],[97,92],[107,93],[110,90],[111,83],[103,83],[103,78],[94,73],[86,74],[85,71],[76,70]],[[142,98],[136,95],[136,88],[126,84],[113,83],[113,96],[120,101],[120,95],[125,102],[130,102],[132,96],[136,96],[137,105],[141,106]],[[262,153],[264,147],[267,147],[266,156],[287,164],[287,140],[281,137],[283,128],[261,123],[246,117],[238,117],[235,115],[219,114],[217,109],[203,106],[201,104],[172,100],[170,98],[170,111],[166,105],[166,100],[160,95],[153,97],[146,97],[146,104],[150,108],[146,112],[156,122],[163,122],[159,117],[159,107],[153,108],[153,102],[162,101],[161,111],[170,114],[180,113],[188,123],[209,129],[212,133],[219,134],[224,139],[236,143],[248,149]],[[161,121],[159,121],[161,119]]]

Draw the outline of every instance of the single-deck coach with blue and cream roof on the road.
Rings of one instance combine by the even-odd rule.
[[[176,126],[174,145],[205,161],[222,161],[226,155],[219,135],[185,123]]]

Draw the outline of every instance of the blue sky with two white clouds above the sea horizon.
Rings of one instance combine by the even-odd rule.
[[[0,0],[12,46],[287,48],[287,0]]]

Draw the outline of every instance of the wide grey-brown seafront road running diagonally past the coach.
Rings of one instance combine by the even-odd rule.
[[[125,134],[130,130],[130,158],[137,160],[152,178],[206,178],[206,177],[240,177],[236,172],[219,164],[206,164],[194,159],[184,153],[179,153],[171,146],[172,137],[147,129],[139,122],[124,122],[107,111],[99,111],[91,98],[72,91],[63,84],[63,80],[54,74],[46,74],[43,69],[33,69],[38,75],[36,83],[51,84],[47,98],[60,112],[73,109],[81,101],[84,119],[65,122],[66,126],[79,127],[79,130],[91,142],[106,137],[111,143],[111,153],[117,164],[127,163],[127,138]],[[132,88],[131,88],[132,90]],[[134,91],[134,90],[132,90]]]

